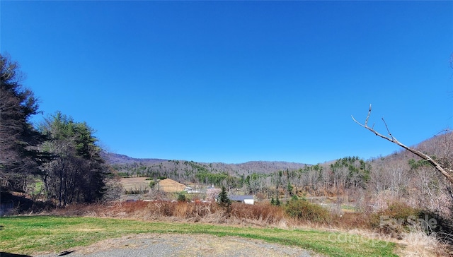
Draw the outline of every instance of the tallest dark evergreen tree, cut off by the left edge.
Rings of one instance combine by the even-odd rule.
[[[38,100],[21,85],[18,64],[0,54],[0,190],[25,191],[28,177],[49,159],[38,151],[44,140],[30,122]]]

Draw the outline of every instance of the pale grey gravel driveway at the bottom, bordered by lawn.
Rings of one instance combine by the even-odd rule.
[[[270,244],[242,237],[209,234],[137,234],[76,247],[62,253],[36,257],[124,257],[124,256],[320,256],[294,246]]]

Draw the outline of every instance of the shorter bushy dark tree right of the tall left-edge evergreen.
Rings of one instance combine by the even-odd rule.
[[[55,155],[42,174],[49,197],[56,199],[59,206],[101,200],[110,172],[93,130],[86,123],[74,122],[57,112],[45,119],[40,131],[48,138],[42,150]]]

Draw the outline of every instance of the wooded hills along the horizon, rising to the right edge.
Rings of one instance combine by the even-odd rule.
[[[452,143],[453,134],[442,133],[413,147],[450,167]],[[351,202],[357,208],[369,205],[381,207],[389,201],[403,199],[414,207],[447,211],[445,201],[448,201],[449,187],[445,179],[428,163],[407,150],[370,160],[342,157],[316,165],[122,158],[124,162],[111,164],[122,177],[168,177],[186,184],[215,184],[241,189],[244,193],[262,193],[268,198],[296,194],[338,196],[339,204]],[[106,157],[106,160],[110,159]]]

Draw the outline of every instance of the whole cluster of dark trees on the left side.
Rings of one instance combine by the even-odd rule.
[[[38,100],[17,62],[0,55],[0,72],[0,191],[38,191],[58,206],[111,196],[117,186],[93,128],[61,112],[35,126]]]

